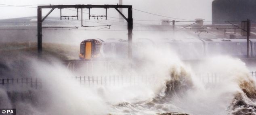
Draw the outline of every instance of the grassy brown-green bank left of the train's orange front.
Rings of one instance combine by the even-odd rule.
[[[77,60],[79,46],[43,43],[42,57],[55,57],[59,60]],[[37,56],[37,43],[29,42],[7,42],[0,43],[0,57],[14,58],[18,55]]]

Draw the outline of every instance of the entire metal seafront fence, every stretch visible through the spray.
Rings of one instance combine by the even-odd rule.
[[[250,72],[251,76],[256,78],[256,72]],[[205,84],[218,83],[221,81],[220,74],[195,74],[199,77],[199,80]],[[141,84],[154,84],[159,80],[154,75],[141,75],[141,76],[76,76],[72,77],[84,86],[103,85],[103,86],[115,86],[115,85],[141,85]],[[0,79],[0,86],[19,85],[21,87],[42,88],[42,81],[38,78],[2,78]]]

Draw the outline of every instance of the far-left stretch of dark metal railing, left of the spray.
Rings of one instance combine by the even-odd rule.
[[[38,80],[38,78],[2,78],[0,79],[0,85],[9,86],[9,85],[20,85],[29,86],[31,88],[42,88],[42,82]]]

